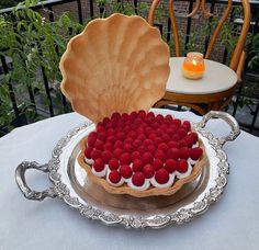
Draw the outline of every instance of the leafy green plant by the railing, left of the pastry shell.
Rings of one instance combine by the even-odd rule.
[[[14,89],[20,112],[27,120],[34,121],[34,109],[26,96],[30,88],[47,105],[42,71],[54,89],[55,102],[61,104],[58,88],[61,80],[58,69],[60,56],[71,36],[82,31],[82,25],[68,13],[61,14],[55,22],[48,22],[38,12],[30,9],[37,3],[37,0],[26,0],[18,5],[23,9],[14,8],[12,13],[0,15],[0,52],[12,60],[11,70],[0,79],[1,126],[9,125],[14,117],[9,84]],[[61,112],[60,109],[58,113]]]

